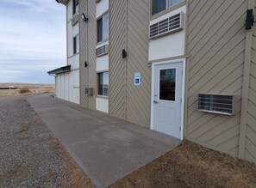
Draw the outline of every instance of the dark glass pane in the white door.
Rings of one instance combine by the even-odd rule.
[[[175,101],[176,69],[159,71],[159,100]]]

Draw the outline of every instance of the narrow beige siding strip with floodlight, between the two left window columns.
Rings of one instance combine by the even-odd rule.
[[[87,14],[89,21],[80,21],[80,103],[90,109],[96,109],[97,71],[95,49],[97,45],[96,2],[80,1],[80,13]],[[84,62],[88,67],[84,68]],[[84,88],[94,89],[93,96],[86,96]]]

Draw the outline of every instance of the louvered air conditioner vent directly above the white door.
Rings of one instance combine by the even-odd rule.
[[[149,38],[153,39],[167,33],[174,33],[184,29],[184,13],[172,15],[163,21],[154,23],[149,27]]]

